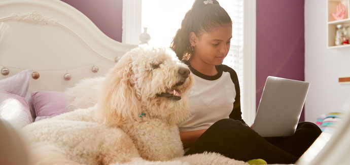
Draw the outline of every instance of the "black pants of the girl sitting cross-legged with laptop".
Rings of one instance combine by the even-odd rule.
[[[185,155],[217,152],[236,160],[262,158],[267,163],[295,163],[321,134],[312,122],[298,123],[290,137],[263,138],[241,121],[222,119],[208,128]]]

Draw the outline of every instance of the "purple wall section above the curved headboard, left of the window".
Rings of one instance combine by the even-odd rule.
[[[61,0],[85,14],[104,34],[122,42],[123,0]]]

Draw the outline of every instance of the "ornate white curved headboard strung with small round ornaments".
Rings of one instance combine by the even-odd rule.
[[[0,69],[10,71],[0,79],[37,71],[40,77],[31,78],[29,91],[64,91],[82,78],[104,75],[116,57],[134,47],[103,34],[59,0],[0,0]],[[63,78],[66,73],[70,80]]]

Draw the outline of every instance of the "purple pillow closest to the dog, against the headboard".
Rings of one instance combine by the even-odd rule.
[[[36,112],[36,121],[44,116],[55,116],[67,112],[66,96],[64,92],[37,91],[31,93],[31,99]]]

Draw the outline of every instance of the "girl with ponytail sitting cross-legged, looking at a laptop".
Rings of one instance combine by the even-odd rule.
[[[219,3],[196,0],[172,40],[171,49],[194,74],[191,116],[178,125],[185,155],[208,151],[243,161],[294,163],[321,130],[301,122],[294,136],[263,138],[246,125],[237,74],[222,65],[231,38],[231,18]]]

